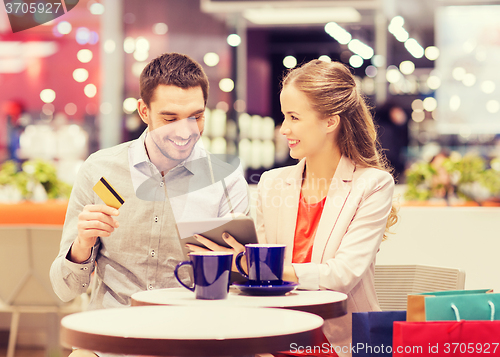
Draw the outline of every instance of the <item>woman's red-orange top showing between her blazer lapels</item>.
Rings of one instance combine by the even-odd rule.
[[[293,240],[292,263],[310,263],[314,236],[318,228],[326,197],[318,203],[309,204],[300,193],[299,212]]]

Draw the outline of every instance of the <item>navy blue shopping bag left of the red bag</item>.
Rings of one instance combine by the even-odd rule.
[[[352,355],[358,357],[392,356],[393,322],[405,320],[406,311],[353,312]]]

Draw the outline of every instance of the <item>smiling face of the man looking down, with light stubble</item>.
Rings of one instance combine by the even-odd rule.
[[[151,99],[150,108],[139,100],[139,114],[148,124],[150,137],[148,153],[161,153],[174,166],[185,160],[203,133],[205,101],[201,87],[183,89],[159,85]],[[152,159],[152,158],[151,158]],[[170,163],[165,163],[170,166]]]

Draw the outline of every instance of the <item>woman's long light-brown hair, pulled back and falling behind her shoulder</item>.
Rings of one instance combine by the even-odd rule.
[[[309,99],[311,107],[324,119],[338,115],[337,145],[342,155],[361,167],[391,172],[380,151],[377,131],[368,105],[356,86],[351,71],[339,62],[310,61],[285,76],[282,87],[293,85]],[[392,206],[386,233],[398,220]]]

